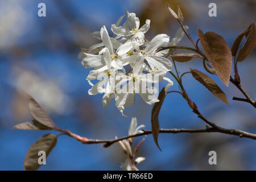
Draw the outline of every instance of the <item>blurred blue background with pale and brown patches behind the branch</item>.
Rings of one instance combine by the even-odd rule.
[[[38,16],[38,4],[46,3],[46,17]],[[217,4],[217,17],[208,16],[210,2]],[[57,125],[87,138],[112,139],[127,135],[131,117],[151,129],[152,106],[137,96],[135,105],[122,117],[114,102],[104,108],[102,95],[89,96],[85,80],[89,69],[77,59],[80,47],[88,48],[97,39],[89,33],[99,31],[125,14],[134,12],[144,24],[151,19],[147,39],[165,33],[174,38],[179,24],[167,9],[181,6],[184,25],[197,40],[197,29],[214,31],[224,36],[229,46],[240,32],[256,19],[256,2],[251,0],[1,0],[0,1],[0,169],[22,170],[28,148],[49,131],[13,130],[20,122],[31,121],[26,92],[47,111]],[[191,46],[184,38],[179,45]],[[255,49],[248,59],[238,64],[241,84],[251,98],[256,97]],[[202,61],[193,59],[177,63],[179,71],[189,68],[204,71]],[[168,74],[167,74],[168,75]],[[233,75],[233,72],[232,72]],[[170,77],[168,75],[168,77]],[[217,76],[211,76],[226,93],[230,107],[214,97],[191,75],[183,78],[185,89],[201,113],[210,121],[230,129],[256,133],[255,109],[233,101],[243,97],[230,84],[227,88]],[[171,77],[170,77],[171,78]],[[160,89],[166,82],[159,85]],[[176,84],[177,85],[177,84]],[[177,90],[177,86],[171,90]],[[192,113],[183,98],[169,94],[159,115],[162,128],[201,128],[205,123]],[[54,132],[53,132],[54,133]],[[138,138],[135,141],[139,141]],[[256,141],[224,134],[160,134],[162,152],[151,135],[146,137],[139,156],[146,160],[137,167],[143,170],[231,170],[256,169]],[[217,152],[217,165],[208,164],[208,152]],[[102,148],[101,144],[84,145],[67,136],[58,138],[56,147],[39,170],[119,170],[125,155],[118,144]]]

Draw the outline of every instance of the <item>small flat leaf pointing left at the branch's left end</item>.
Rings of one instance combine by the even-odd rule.
[[[33,119],[31,122],[24,122],[24,123],[19,123],[18,125],[13,126],[13,129],[18,129],[18,130],[52,130],[51,127],[47,127]]]

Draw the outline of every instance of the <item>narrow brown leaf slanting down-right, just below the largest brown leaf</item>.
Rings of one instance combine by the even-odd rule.
[[[192,76],[199,81],[202,85],[204,85],[214,96],[216,96],[219,100],[224,102],[229,106],[229,102],[226,99],[225,93],[218,87],[216,82],[212,80],[209,76],[205,75],[203,72],[198,71],[197,69],[190,69]]]

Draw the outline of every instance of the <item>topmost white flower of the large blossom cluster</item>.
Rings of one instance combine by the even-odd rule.
[[[125,37],[129,42],[139,42],[141,45],[144,43],[144,34],[150,28],[150,20],[146,20],[141,28],[139,28],[139,18],[136,17],[135,13],[129,13],[126,11],[126,22],[123,26],[117,26],[117,24],[112,24],[111,30],[119,37]]]

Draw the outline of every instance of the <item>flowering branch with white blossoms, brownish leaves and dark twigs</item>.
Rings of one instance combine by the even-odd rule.
[[[171,41],[170,37],[166,34],[156,35],[151,40],[146,39],[144,34],[146,34],[150,28],[150,20],[147,19],[145,24],[140,27],[139,18],[134,13],[126,11],[125,15],[117,20],[117,23],[112,24],[111,30],[114,33],[113,37],[110,37],[107,28],[102,26],[100,31],[92,33],[92,36],[102,40],[102,43],[93,45],[88,49],[82,49],[79,53],[79,59],[82,60],[82,65],[84,65],[85,68],[93,68],[86,78],[89,85],[92,86],[92,88],[88,90],[88,94],[96,95],[104,93],[102,97],[104,107],[108,106],[111,100],[114,100],[117,109],[125,116],[125,107],[130,107],[134,104],[135,94],[138,93],[147,104],[154,104],[151,112],[152,130],[139,130],[141,127],[144,127],[144,125],[137,127],[137,119],[133,118],[126,137],[116,137],[115,139],[88,139],[74,134],[68,129],[65,130],[56,126],[38,102],[28,95],[28,107],[34,119],[32,123],[25,122],[15,125],[14,129],[55,130],[59,131],[60,134],[47,134],[36,141],[27,152],[24,161],[24,169],[37,169],[39,167],[37,163],[38,159],[36,158],[36,156],[38,156],[38,154],[36,154],[38,148],[47,151],[48,155],[55,146],[57,137],[60,135],[68,135],[84,144],[103,143],[103,147],[109,147],[118,142],[127,156],[126,162],[122,164],[123,169],[126,170],[138,170],[135,165],[144,160],[143,157],[135,159],[135,155],[144,142],[144,138],[135,146],[134,150],[132,149],[134,143],[133,139],[143,135],[152,134],[156,146],[158,146],[159,149],[159,133],[223,133],[256,139],[256,134],[238,129],[225,129],[205,118],[200,113],[195,102],[189,98],[185,91],[182,80],[183,76],[191,73],[193,78],[204,85],[214,96],[226,105],[229,105],[225,93],[216,82],[205,73],[197,69],[190,69],[190,71],[179,75],[176,66],[176,62],[184,63],[193,58],[203,59],[205,71],[217,75],[226,86],[229,85],[229,82],[232,82],[246,97],[233,97],[233,100],[248,102],[256,108],[255,101],[252,100],[241,87],[237,68],[237,63],[245,60],[255,46],[255,24],[252,23],[247,30],[238,35],[231,49],[222,36],[214,32],[206,32],[204,34],[200,29],[197,31],[199,39],[194,43],[191,35],[187,31],[188,27],[182,24],[184,18],[180,7],[178,6],[177,8],[177,14],[169,6],[168,9],[181,26],[175,38]],[[126,18],[126,22],[121,26],[124,17]],[[184,35],[186,35],[192,43],[193,48],[176,46]],[[246,43],[240,48],[243,37],[246,38]],[[204,52],[200,50],[199,42]],[[176,53],[177,49],[188,50],[193,53]],[[169,57],[171,57],[172,62],[168,59]],[[234,57],[234,79],[230,76],[232,57]],[[172,65],[174,65],[175,72],[171,71]],[[170,78],[165,77],[167,72],[177,81],[179,91],[168,91],[170,86],[173,85],[173,82]],[[98,82],[93,84],[91,82],[92,80],[98,80]],[[155,93],[157,93],[158,89],[155,88],[153,84],[155,85],[163,80],[167,81],[168,84],[159,92],[157,98]],[[205,129],[159,129],[158,116],[160,108],[162,107],[166,95],[171,93],[179,93],[183,96],[193,113],[197,114],[197,117],[207,123]]]

